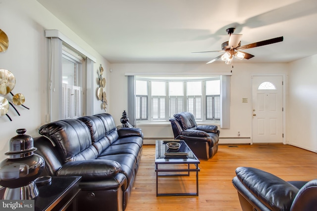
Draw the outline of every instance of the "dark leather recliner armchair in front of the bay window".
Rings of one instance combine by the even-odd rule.
[[[217,126],[198,126],[190,112],[174,114],[169,121],[174,139],[184,140],[198,158],[208,160],[217,153],[220,134]]]

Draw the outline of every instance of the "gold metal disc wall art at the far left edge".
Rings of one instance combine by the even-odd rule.
[[[7,50],[9,46],[9,40],[6,34],[0,29],[0,52],[4,52]],[[9,111],[9,106],[15,110],[15,112],[20,116],[20,113],[15,108],[14,105],[21,105],[26,109],[28,107],[22,105],[25,102],[25,97],[23,94],[13,94],[12,89],[15,86],[15,77],[14,75],[5,69],[0,69],[0,94],[6,96],[7,94],[12,95],[12,103],[7,99],[7,97],[0,96],[0,116],[7,116],[10,121],[12,121],[11,117],[7,114]]]

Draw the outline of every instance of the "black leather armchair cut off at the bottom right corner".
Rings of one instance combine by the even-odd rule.
[[[243,211],[317,210],[317,179],[287,182],[260,169],[239,167],[232,183]]]

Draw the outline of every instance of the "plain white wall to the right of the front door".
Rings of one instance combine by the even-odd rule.
[[[317,152],[317,55],[289,65],[287,139]]]

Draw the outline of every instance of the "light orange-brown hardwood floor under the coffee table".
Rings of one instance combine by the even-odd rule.
[[[199,196],[156,196],[155,145],[144,145],[140,168],[126,211],[241,211],[232,185],[235,169],[254,167],[284,180],[317,178],[317,153],[290,145],[220,145],[199,165]],[[159,178],[159,192],[195,192],[195,174]]]

